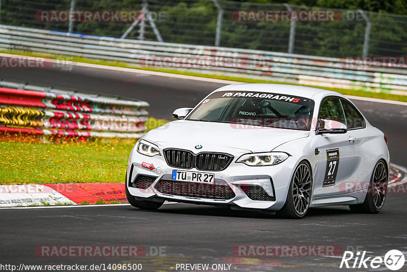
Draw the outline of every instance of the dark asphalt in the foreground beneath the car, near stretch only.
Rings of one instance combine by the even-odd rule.
[[[239,257],[238,245],[333,245],[384,256],[406,251],[405,196],[391,195],[380,214],[346,207],[311,209],[303,220],[283,220],[227,208],[165,204],[157,211],[128,206],[2,209],[2,262],[13,264],[141,263],[144,271],[174,271],[177,263],[231,263],[232,271],[339,271],[333,257]],[[165,256],[38,257],[42,245],[140,245]],[[345,269],[346,270],[346,269]],[[360,270],[358,270],[360,271]]]

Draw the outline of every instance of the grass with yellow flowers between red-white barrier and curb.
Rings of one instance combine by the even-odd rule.
[[[150,118],[148,130],[166,122]],[[0,184],[124,182],[130,151],[137,140],[114,144],[105,141],[0,141]]]

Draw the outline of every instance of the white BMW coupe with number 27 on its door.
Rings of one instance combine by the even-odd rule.
[[[383,208],[387,139],[339,93],[235,84],[173,117],[130,153],[126,194],[134,207],[167,200],[294,219],[319,206]]]

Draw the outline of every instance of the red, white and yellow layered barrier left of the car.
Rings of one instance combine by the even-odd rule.
[[[140,138],[146,131],[147,102],[61,92],[0,88],[0,132]]]

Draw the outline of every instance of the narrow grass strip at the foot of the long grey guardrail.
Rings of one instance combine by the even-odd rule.
[[[133,68],[133,69],[139,69],[139,70],[191,75],[191,76],[215,78],[215,79],[224,79],[224,80],[238,81],[238,82],[243,82],[243,83],[277,83],[277,84],[299,85],[299,84],[284,83],[284,82],[271,81],[271,80],[261,80],[261,79],[252,79],[252,78],[244,78],[244,77],[232,77],[232,76],[224,76],[224,75],[201,74],[201,73],[195,73],[195,72],[179,71],[179,70],[175,70],[175,69],[146,68],[146,67],[140,67],[140,66],[125,63],[125,62],[115,62],[115,61],[112,62],[112,61],[105,61],[105,60],[87,59],[87,58],[81,58],[81,57],[67,57],[67,56],[61,56],[61,55],[51,55],[51,54],[46,54],[46,53],[41,53],[41,52],[27,52],[27,51],[16,51],[16,50],[13,50],[13,51],[0,50],[0,52],[23,55],[23,56],[42,57],[42,58],[49,58],[49,59],[64,58],[64,60],[68,60],[73,63],[75,63],[75,62],[91,63],[91,64],[108,65],[108,66],[115,66],[115,67]],[[388,94],[388,93],[375,93],[375,92],[368,92],[368,91],[363,91],[363,90],[327,88],[327,87],[319,87],[319,86],[312,86],[312,85],[303,85],[303,86],[316,87],[316,88],[320,88],[320,89],[335,91],[335,92],[338,92],[338,93],[341,93],[344,95],[354,95],[354,96],[380,98],[380,99],[407,102],[407,96],[403,96],[403,95],[394,95],[394,94]]]

